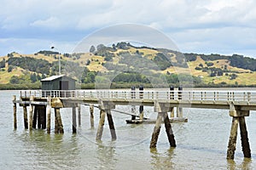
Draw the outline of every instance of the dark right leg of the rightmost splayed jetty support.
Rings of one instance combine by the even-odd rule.
[[[247,135],[247,125],[246,125],[244,116],[239,117],[239,127],[240,127],[240,133],[241,133],[241,148],[242,148],[243,155],[244,157],[250,158],[251,150],[250,150],[250,144],[249,144],[248,135]]]

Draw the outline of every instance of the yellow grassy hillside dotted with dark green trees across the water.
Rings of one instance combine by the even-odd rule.
[[[61,71],[76,78],[84,88],[94,82],[112,80],[113,88],[144,84],[171,86],[237,87],[256,86],[256,59],[233,54],[182,54],[163,48],[135,47],[119,42],[112,47],[100,44],[90,53],[58,54],[39,51],[36,54],[15,52],[0,58],[0,88],[40,88],[40,80]],[[151,82],[151,84],[150,84]],[[192,83],[191,83],[192,82]]]

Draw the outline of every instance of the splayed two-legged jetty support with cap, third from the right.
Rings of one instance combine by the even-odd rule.
[[[111,102],[108,102],[108,101],[106,101],[106,102],[100,101],[99,108],[101,110],[101,118],[100,118],[100,122],[98,125],[97,133],[96,133],[96,140],[102,139],[102,133],[103,133],[103,127],[104,127],[106,114],[108,117],[108,125],[110,128],[112,140],[115,140],[116,133],[115,133],[114,125],[113,125],[113,118],[112,118],[111,111],[110,111],[111,109],[115,108],[115,105],[113,105]]]

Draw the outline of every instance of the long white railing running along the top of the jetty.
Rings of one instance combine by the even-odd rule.
[[[155,91],[155,90],[25,90],[20,91],[20,97],[30,96],[46,98],[84,98],[84,99],[175,99],[175,100],[209,100],[209,101],[245,101],[256,102],[256,92],[241,91]]]

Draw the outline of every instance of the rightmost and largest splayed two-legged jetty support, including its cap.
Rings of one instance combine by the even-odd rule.
[[[230,116],[233,117],[232,126],[230,130],[230,140],[227,150],[227,159],[234,159],[236,150],[236,138],[238,123],[241,133],[241,147],[244,157],[251,157],[250,145],[247,137],[247,127],[245,122],[245,116],[249,116],[249,111],[241,111],[240,108],[230,103]]]

